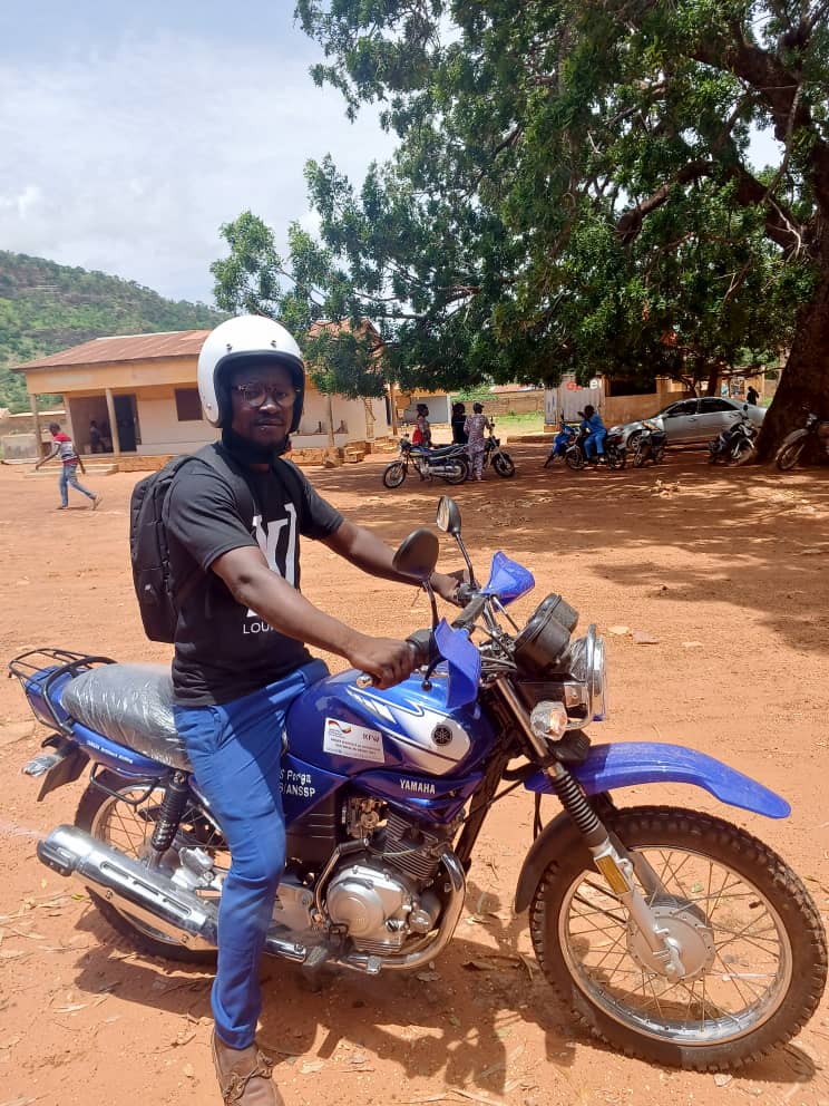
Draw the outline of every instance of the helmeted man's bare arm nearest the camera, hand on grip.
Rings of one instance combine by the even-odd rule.
[[[269,567],[259,547],[246,545],[223,553],[211,571],[237,603],[254,610],[274,630],[344,657],[353,668],[370,672],[380,688],[399,683],[416,667],[404,641],[370,638],[318,610]]]

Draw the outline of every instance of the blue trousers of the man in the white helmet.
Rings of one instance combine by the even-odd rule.
[[[216,1034],[231,1048],[253,1044],[262,1010],[259,963],[285,866],[280,789],[285,715],[326,672],[315,660],[232,702],[173,708],[196,783],[231,850],[212,993]]]

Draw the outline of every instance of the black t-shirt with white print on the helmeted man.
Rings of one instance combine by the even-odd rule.
[[[244,497],[197,462],[186,465],[170,487],[170,571],[175,594],[182,596],[173,685],[183,706],[230,702],[311,659],[301,641],[237,603],[209,571],[223,553],[259,545],[271,569],[299,591],[300,535],[326,537],[343,520],[293,465],[284,478],[289,465],[280,460],[266,473],[247,469],[251,495]]]

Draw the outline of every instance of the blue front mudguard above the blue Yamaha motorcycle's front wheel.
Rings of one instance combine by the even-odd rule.
[[[652,741],[596,745],[585,763],[572,770],[588,795],[637,784],[693,784],[710,792],[721,803],[739,806],[743,811],[769,818],[786,818],[791,814],[786,799],[768,787],[704,753],[686,749],[682,745],[656,745]],[[530,792],[553,794],[549,780],[542,772],[530,776],[524,786]]]

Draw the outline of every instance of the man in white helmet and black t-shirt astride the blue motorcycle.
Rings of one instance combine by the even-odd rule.
[[[388,545],[344,518],[282,458],[304,388],[302,353],[280,323],[243,316],[218,326],[198,358],[198,390],[206,419],[222,428],[214,448],[244,477],[250,505],[245,513],[204,462],[184,466],[168,494],[178,607],[174,715],[231,851],[218,911],[213,1058],[224,1100],[243,1106],[282,1104],[255,1041],[259,962],[285,861],[284,718],[292,700],[326,673],[305,647],[344,657],[380,688],[413,668],[404,641],[345,625],[300,590],[301,537],[370,575],[411,585],[392,567]],[[451,599],[458,580],[435,573],[431,583]]]

